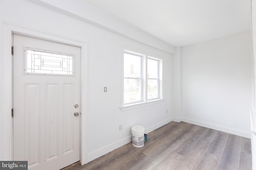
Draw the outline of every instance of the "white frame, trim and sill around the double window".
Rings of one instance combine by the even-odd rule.
[[[124,104],[124,53],[142,56],[142,82],[141,82],[141,95],[142,101],[130,102],[128,104]],[[121,106],[120,109],[122,111],[134,109],[137,107],[148,106],[152,104],[157,104],[163,102],[163,95],[162,95],[162,71],[163,71],[163,58],[160,56],[152,55],[147,52],[141,52],[134,49],[127,49],[125,48],[122,53],[122,67],[121,67]],[[154,56],[154,57],[152,57]],[[158,98],[147,99],[148,96],[148,59],[153,59],[158,61]],[[149,79],[151,80],[151,79]]]

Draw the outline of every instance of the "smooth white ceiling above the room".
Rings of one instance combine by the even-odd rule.
[[[82,0],[175,47],[250,30],[251,0]]]

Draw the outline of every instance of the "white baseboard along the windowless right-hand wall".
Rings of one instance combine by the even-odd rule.
[[[214,125],[214,124],[211,124],[211,123],[206,123],[206,122],[197,121],[197,120],[193,120],[193,119],[187,119],[187,118],[184,118],[184,117],[181,118],[181,121],[184,121],[184,122],[187,122],[187,123],[192,123],[194,125],[207,127],[207,128],[210,128],[210,129],[215,129],[217,131],[231,133],[233,135],[238,135],[238,136],[242,136],[242,137],[246,137],[246,138],[251,137],[251,133],[249,133],[249,132],[240,131],[240,130],[232,129],[232,128],[229,128],[229,127],[223,127],[223,126],[220,126],[220,125]]]

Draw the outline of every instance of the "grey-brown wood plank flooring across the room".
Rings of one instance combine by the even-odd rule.
[[[248,138],[174,121],[147,135],[142,148],[128,143],[68,170],[252,170]]]

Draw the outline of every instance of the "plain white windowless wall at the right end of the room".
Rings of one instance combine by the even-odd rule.
[[[250,31],[182,47],[182,121],[250,137]]]

